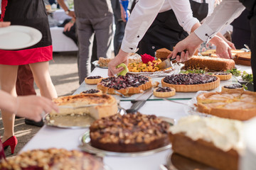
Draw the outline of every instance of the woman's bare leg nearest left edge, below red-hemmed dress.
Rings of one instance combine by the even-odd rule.
[[[16,79],[18,66],[1,65],[0,64],[0,83],[1,90],[17,96],[16,94]],[[3,98],[1,100],[4,100]],[[13,113],[1,110],[1,115],[4,124],[4,135],[2,141],[6,141],[9,137],[14,136],[14,118]]]

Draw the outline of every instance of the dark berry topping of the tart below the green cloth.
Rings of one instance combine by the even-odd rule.
[[[125,89],[127,87],[138,87],[149,81],[149,78],[142,75],[126,75],[118,77],[108,77],[107,79],[102,79],[100,84],[113,88],[115,90]]]

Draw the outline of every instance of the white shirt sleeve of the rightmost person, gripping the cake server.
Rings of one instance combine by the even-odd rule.
[[[195,30],[196,35],[204,42],[209,42],[223,26],[238,18],[244,9],[238,0],[223,0],[206,18],[206,22]]]

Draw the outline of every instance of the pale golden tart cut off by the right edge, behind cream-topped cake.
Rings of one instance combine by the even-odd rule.
[[[201,113],[220,118],[249,120],[256,115],[256,93],[252,91],[221,91],[197,96]]]

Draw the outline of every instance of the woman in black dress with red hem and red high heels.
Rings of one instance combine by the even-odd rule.
[[[41,96],[49,99],[57,98],[48,71],[48,61],[53,59],[53,47],[43,0],[3,0],[1,11],[0,21],[11,21],[11,25],[30,26],[40,30],[43,35],[41,41],[32,47],[21,50],[0,50],[1,90],[16,96],[18,66],[29,64],[36,84],[41,91]],[[5,109],[2,109],[1,113],[4,124],[3,146],[11,146],[11,153],[13,154],[17,144],[14,136],[15,115]]]

